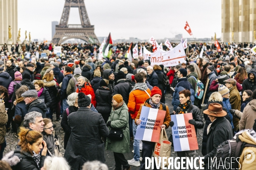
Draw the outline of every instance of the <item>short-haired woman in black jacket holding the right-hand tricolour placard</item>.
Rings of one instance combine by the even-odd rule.
[[[197,133],[197,129],[201,129],[204,127],[201,111],[197,106],[192,105],[192,101],[190,100],[191,93],[189,90],[180,91],[179,96],[180,104],[176,109],[176,114],[192,113],[193,119],[190,119],[189,123],[195,126],[195,132]],[[172,127],[173,125],[174,122],[171,121],[170,126]],[[172,135],[170,136],[169,141],[173,143]],[[195,158],[195,150],[179,151],[177,152],[177,156]]]

